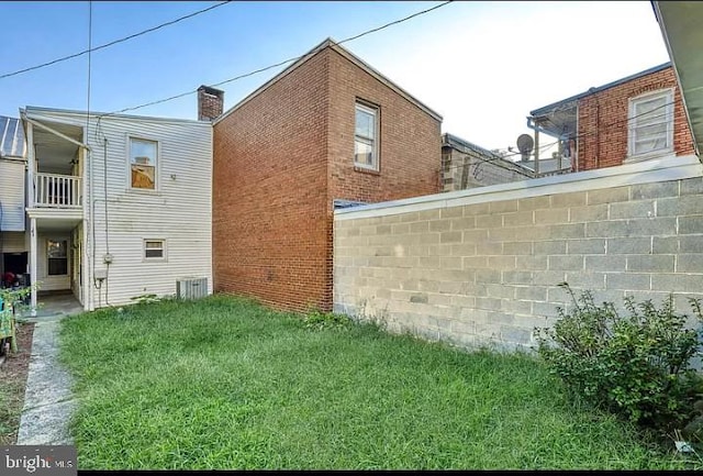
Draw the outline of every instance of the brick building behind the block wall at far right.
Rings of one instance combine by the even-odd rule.
[[[545,106],[527,119],[536,134],[550,136],[543,146],[561,140],[565,158],[576,158],[573,171],[694,153],[670,63]]]

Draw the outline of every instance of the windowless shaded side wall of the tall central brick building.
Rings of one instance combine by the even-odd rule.
[[[324,301],[327,67],[313,56],[215,123],[215,291]]]

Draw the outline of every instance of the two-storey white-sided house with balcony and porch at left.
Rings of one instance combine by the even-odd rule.
[[[212,292],[210,121],[36,107],[20,115],[27,146],[0,159],[0,252],[26,253],[25,269],[3,259],[5,270],[38,292],[70,290],[85,310],[192,286]]]

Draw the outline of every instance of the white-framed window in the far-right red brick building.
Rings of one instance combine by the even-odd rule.
[[[628,156],[673,150],[673,90],[632,98],[628,115]]]

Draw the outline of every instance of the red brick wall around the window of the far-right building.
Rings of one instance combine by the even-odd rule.
[[[627,157],[629,98],[674,89],[676,155],[693,154],[693,139],[672,67],[614,86],[579,100],[579,170],[621,165]]]

